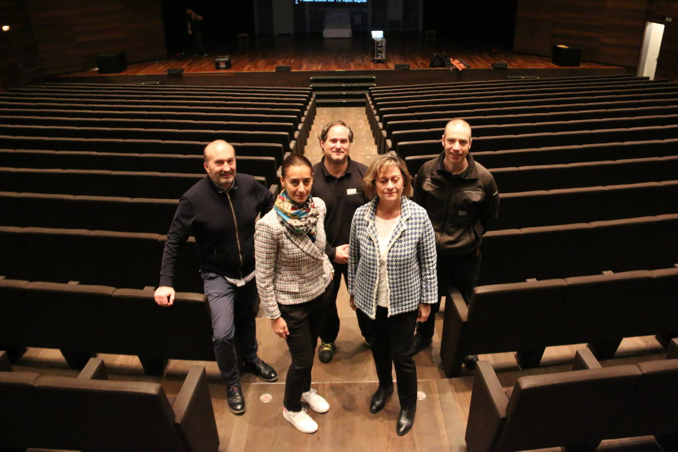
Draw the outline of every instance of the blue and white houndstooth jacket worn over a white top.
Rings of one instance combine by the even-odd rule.
[[[357,308],[376,317],[379,279],[379,241],[374,225],[378,198],[353,215],[348,255],[348,293]],[[388,316],[416,310],[420,303],[438,299],[435,234],[428,214],[405,197],[400,220],[388,241]]]

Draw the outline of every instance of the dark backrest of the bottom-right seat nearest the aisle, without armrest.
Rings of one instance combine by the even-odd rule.
[[[640,376],[637,366],[622,365],[520,377],[495,450],[599,443]]]

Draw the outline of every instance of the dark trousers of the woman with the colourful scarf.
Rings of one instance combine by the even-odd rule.
[[[313,355],[318,335],[325,319],[325,306],[332,297],[332,281],[325,291],[310,302],[278,304],[280,315],[287,323],[287,348],[292,364],[285,379],[283,405],[287,411],[301,411],[301,394],[311,389]]]

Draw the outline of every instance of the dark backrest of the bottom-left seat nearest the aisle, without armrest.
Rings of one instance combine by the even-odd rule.
[[[35,389],[83,451],[186,451],[157,383],[41,376]]]

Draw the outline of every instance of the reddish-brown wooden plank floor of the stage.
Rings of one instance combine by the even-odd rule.
[[[350,39],[323,39],[321,35],[251,36],[248,45],[237,43],[219,49],[209,49],[209,56],[176,55],[157,61],[129,64],[119,75],[160,75],[169,68],[182,68],[186,74],[271,72],[275,66],[289,65],[293,71],[319,70],[387,70],[395,64],[407,63],[412,69],[428,69],[431,55],[447,52],[453,58],[468,62],[471,68],[491,68],[494,62],[506,62],[509,68],[555,69],[551,58],[517,54],[506,49],[460,48],[452,41],[426,42],[420,33],[393,34],[386,39],[386,62],[372,61],[373,43],[367,35]],[[216,70],[214,57],[228,55],[231,68]],[[580,69],[620,68],[610,64],[582,62]],[[98,75],[96,70],[70,73],[68,77]]]

